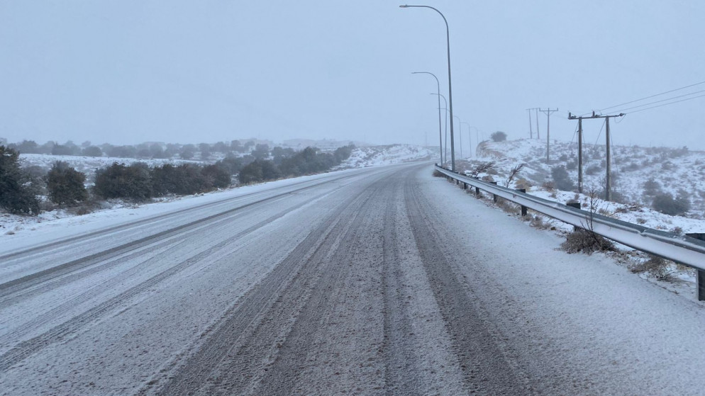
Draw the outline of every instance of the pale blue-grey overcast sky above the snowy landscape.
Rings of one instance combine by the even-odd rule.
[[[411,72],[435,73],[448,96],[445,25],[399,4],[0,0],[0,137],[437,144],[435,80]],[[550,107],[551,136],[570,141],[568,111],[705,81],[705,1],[410,4],[448,18],[453,111],[484,137],[528,137],[526,108]],[[613,141],[705,149],[704,108],[705,97],[628,114]],[[601,126],[585,121],[585,140],[604,142]]]

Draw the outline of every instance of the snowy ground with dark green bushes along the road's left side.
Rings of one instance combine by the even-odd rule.
[[[330,142],[328,142],[330,143]],[[153,147],[152,147],[153,146]],[[156,145],[152,145],[152,151],[159,152]],[[169,147],[171,147],[171,150]],[[172,153],[188,152],[196,145],[165,145],[167,147],[162,152],[170,150]],[[194,157],[197,159],[183,159],[180,154],[170,154],[168,158],[149,157],[144,152],[142,157],[106,157],[103,154],[96,156],[87,155],[67,155],[67,154],[19,154],[18,165],[26,174],[28,182],[32,185],[32,193],[35,194],[38,202],[39,213],[31,213],[34,216],[27,216],[21,213],[12,213],[12,210],[0,208],[0,237],[4,235],[15,235],[20,230],[32,229],[40,222],[47,222],[72,217],[75,215],[85,215],[96,211],[135,208],[136,205],[143,205],[150,202],[165,202],[192,195],[193,193],[204,193],[206,191],[227,188],[227,180],[220,183],[213,183],[223,179],[227,174],[231,174],[233,186],[245,183],[257,183],[260,181],[282,179],[287,176],[300,176],[301,174],[315,174],[321,171],[333,169],[350,169],[367,166],[379,166],[384,164],[397,164],[414,160],[428,159],[433,154],[431,149],[409,145],[388,145],[357,147],[350,151],[350,147],[343,146],[333,149],[304,149],[296,150],[292,147],[270,146],[259,142],[240,142],[233,140],[231,145],[215,144],[198,145],[199,151]],[[109,147],[108,147],[109,149]],[[105,152],[109,151],[104,150]],[[185,151],[184,151],[185,150]],[[130,150],[123,150],[130,151]],[[138,150],[131,150],[138,152]],[[78,152],[77,152],[78,153]],[[350,155],[348,157],[348,154]],[[188,154],[185,157],[191,157]],[[341,162],[342,161],[342,162]],[[46,178],[52,166],[60,162],[67,169],[74,169],[79,174],[84,175],[84,187],[89,194],[79,194],[84,200],[76,200],[72,204],[62,202],[60,205],[53,203],[50,199]],[[265,166],[270,165],[270,166]],[[199,170],[200,169],[200,170]],[[283,169],[283,170],[282,170]],[[142,191],[145,188],[138,188],[139,193],[135,200],[132,196],[121,196],[115,193],[116,188],[121,186],[98,186],[96,187],[96,174],[133,174],[152,172],[148,179],[152,180],[150,191]],[[219,173],[216,171],[220,171]],[[108,172],[108,173],[106,173]],[[221,175],[220,173],[225,173]],[[157,176],[165,176],[163,182],[157,183]],[[167,177],[168,176],[168,177]],[[188,176],[188,177],[187,177]],[[206,188],[201,188],[203,183],[197,183],[196,179],[203,179],[207,176]],[[24,176],[23,176],[24,177]],[[187,177],[187,179],[184,179]],[[100,179],[100,178],[99,178]],[[103,178],[105,179],[105,178]],[[112,177],[111,179],[125,179]],[[161,179],[164,179],[163,177]],[[178,179],[178,180],[177,180]],[[98,180],[101,181],[101,180]],[[176,182],[175,182],[176,181]],[[186,188],[198,184],[199,188]],[[134,191],[133,184],[127,186],[130,191]],[[137,183],[139,184],[139,183]],[[143,183],[144,184],[144,183]],[[141,184],[140,184],[141,186]],[[179,187],[179,188],[176,188]],[[125,188],[122,188],[125,189]],[[108,191],[109,193],[106,193]],[[133,196],[135,194],[132,194]],[[30,210],[33,212],[36,210]]]

